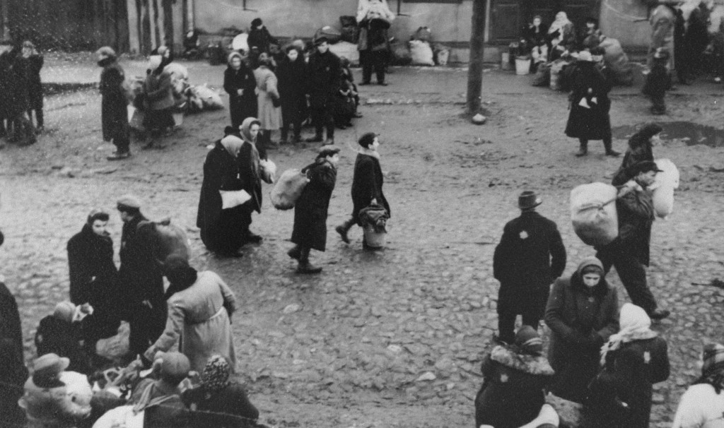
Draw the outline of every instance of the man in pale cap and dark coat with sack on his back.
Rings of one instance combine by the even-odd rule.
[[[118,200],[117,208],[123,221],[118,270],[120,292],[126,296],[122,302],[122,316],[130,324],[132,355],[143,356],[166,327],[164,275],[153,259],[151,249],[143,247],[138,239],[139,223],[148,221],[140,213],[138,198],[124,195]]]

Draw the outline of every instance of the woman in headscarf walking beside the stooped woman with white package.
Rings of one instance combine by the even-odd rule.
[[[261,242],[262,239],[261,236],[253,234],[249,230],[251,213],[254,211],[261,213],[261,166],[259,161],[266,159],[266,148],[264,145],[256,144],[260,128],[261,123],[255,117],[244,119],[239,127],[240,137],[244,140],[237,157],[239,177],[241,188],[251,195],[251,200],[242,205],[244,210],[241,234],[244,242],[251,243]]]

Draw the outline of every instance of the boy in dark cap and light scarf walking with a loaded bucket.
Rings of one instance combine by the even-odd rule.
[[[337,234],[340,234],[345,244],[350,243],[347,236],[350,228],[355,224],[362,226],[359,218],[360,211],[369,207],[376,202],[387,210],[387,215],[392,217],[390,204],[382,192],[384,184],[384,176],[382,175],[382,166],[379,164],[379,135],[374,132],[367,132],[358,140],[360,148],[355,159],[355,170],[352,177],[352,215],[348,221],[334,228]],[[363,246],[366,244],[363,242]]]

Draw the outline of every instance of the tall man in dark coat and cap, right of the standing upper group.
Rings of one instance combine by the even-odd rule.
[[[329,51],[327,38],[314,40],[316,51],[309,57],[309,103],[314,137],[308,142],[321,142],[322,132],[327,128],[324,145],[334,144],[334,96],[340,90],[340,58]]]

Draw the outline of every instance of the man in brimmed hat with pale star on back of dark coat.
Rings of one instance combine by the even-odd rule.
[[[505,343],[513,343],[517,314],[523,315],[524,325],[538,327],[550,283],[565,269],[565,247],[557,226],[536,213],[541,203],[535,192],[521,193],[521,216],[505,225],[495,247],[493,275],[500,281],[498,337]]]

